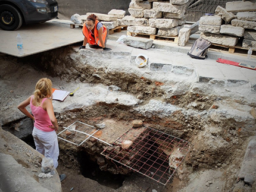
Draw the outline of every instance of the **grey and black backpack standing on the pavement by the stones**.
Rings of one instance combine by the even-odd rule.
[[[196,39],[195,43],[192,45],[191,51],[188,52],[188,55],[195,59],[205,59],[208,57],[207,52],[210,46],[210,41],[204,38]]]

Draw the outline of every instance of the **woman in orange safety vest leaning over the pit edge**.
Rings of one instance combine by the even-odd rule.
[[[85,49],[87,43],[90,48],[102,48],[104,51],[110,51],[110,48],[106,48],[108,30],[101,22],[97,20],[95,14],[91,14],[87,17],[86,22],[83,24],[83,45],[79,49]]]

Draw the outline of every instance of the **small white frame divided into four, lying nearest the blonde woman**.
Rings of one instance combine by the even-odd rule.
[[[57,136],[59,139],[80,146],[97,131],[98,130],[96,130],[92,125],[76,121],[68,127],[60,128],[60,133],[58,133]]]

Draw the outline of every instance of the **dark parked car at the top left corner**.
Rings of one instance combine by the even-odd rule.
[[[17,30],[22,24],[43,23],[58,17],[55,0],[0,0],[0,27]]]

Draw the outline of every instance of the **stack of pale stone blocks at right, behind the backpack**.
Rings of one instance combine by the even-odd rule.
[[[201,37],[211,43],[256,50],[256,3],[253,1],[227,2],[226,8],[218,6],[217,15],[203,16],[199,21]]]

